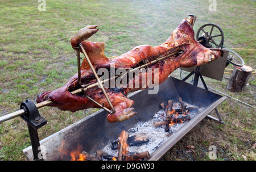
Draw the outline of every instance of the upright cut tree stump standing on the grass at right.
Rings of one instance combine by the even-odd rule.
[[[245,89],[246,83],[253,72],[253,68],[243,65],[241,68],[234,67],[233,73],[229,78],[227,88],[233,92],[241,92]]]

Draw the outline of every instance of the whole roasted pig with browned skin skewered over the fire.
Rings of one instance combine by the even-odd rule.
[[[192,24],[195,22],[194,20],[195,16],[183,19],[174,32],[172,32],[171,36],[162,45],[156,47],[151,47],[150,45],[139,45],[131,49],[131,51],[114,58],[107,58],[104,55],[104,43],[85,41],[98,31],[97,26],[86,26],[85,28],[82,28],[71,39],[71,45],[77,50],[78,45],[81,43],[96,71],[101,68],[109,70],[110,67],[115,69],[135,68],[138,65],[143,64],[145,61],[152,61],[155,58],[170,54],[174,49],[179,49],[181,53],[148,66],[148,68],[151,69],[159,69],[158,75],[154,75],[154,77],[151,78],[157,79],[158,84],[161,84],[166,81],[168,75],[177,68],[200,66],[221,56],[221,51],[213,51],[197,43],[194,39],[194,31],[192,28]],[[136,114],[136,112],[134,112],[134,108],[131,107],[134,101],[127,98],[126,95],[132,91],[148,87],[148,82],[142,82],[141,78],[145,75],[147,77],[152,73],[154,73],[154,70],[147,70],[146,72],[139,73],[139,75],[127,82],[127,84],[130,82],[140,82],[139,87],[136,88],[133,86],[131,87],[130,85],[123,87],[105,87],[106,93],[108,94],[108,97],[115,109],[115,113],[108,114],[107,116],[109,122],[114,123],[117,121],[123,121]],[[84,85],[97,82],[88,62],[85,59],[81,64],[81,82]],[[92,107],[98,108],[97,104],[84,97],[86,94],[98,103],[104,104],[105,107],[110,108],[105,95],[99,87],[89,89],[86,93],[76,95],[71,94],[71,91],[79,89],[80,87],[78,76],[75,74],[59,89],[39,94],[36,102],[40,103],[44,100],[52,100],[54,103],[49,106],[56,106],[60,110],[68,110],[71,112]]]

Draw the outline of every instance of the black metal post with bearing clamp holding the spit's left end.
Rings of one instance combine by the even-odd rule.
[[[43,160],[43,156],[40,154],[41,149],[38,137],[38,129],[43,125],[46,125],[47,121],[42,116],[40,116],[38,108],[29,99],[20,104],[20,109],[25,111],[23,115],[20,115],[20,117],[27,123],[34,160]]]

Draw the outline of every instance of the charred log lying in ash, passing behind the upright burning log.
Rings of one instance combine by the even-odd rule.
[[[148,137],[146,133],[130,136],[128,137],[128,140],[127,140],[127,144],[129,146],[140,145],[145,142],[148,142]],[[113,141],[111,144],[112,144],[111,149],[118,149],[118,141]]]

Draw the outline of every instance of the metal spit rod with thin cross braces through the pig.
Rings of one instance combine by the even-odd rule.
[[[197,42],[200,43],[201,40],[200,40],[200,41],[197,41]],[[87,60],[87,58],[88,58],[88,60],[89,60],[89,57],[87,56],[87,54],[86,54],[86,52],[85,52],[85,50],[84,50],[84,48],[82,47],[81,44],[80,44],[80,48],[81,48],[82,52],[85,54],[86,60]],[[144,67],[146,67],[146,66],[155,64],[156,62],[162,61],[162,60],[164,60],[164,59],[166,59],[166,58],[168,58],[168,57],[171,57],[171,56],[173,56],[173,55],[175,55],[175,54],[177,54],[177,53],[179,53],[179,52],[180,52],[179,49],[175,49],[175,50],[174,50],[173,52],[171,52],[170,54],[167,54],[166,56],[163,56],[163,57],[156,58],[156,59],[153,60],[153,61],[147,62],[146,64],[143,64],[143,65],[141,65],[141,66],[139,66],[139,67],[137,67],[137,68],[134,68],[134,69],[130,70],[130,72],[134,72],[135,70],[139,70],[139,69],[142,69],[142,68],[144,68]],[[80,57],[80,53],[77,53],[77,56]],[[90,60],[89,60],[89,65],[92,65],[92,63],[90,62]],[[104,94],[106,95],[106,91],[105,91],[105,89],[104,89],[104,87],[103,87],[102,84],[103,84],[104,82],[108,82],[108,81],[110,81],[110,80],[112,80],[112,79],[115,79],[115,78],[118,78],[119,76],[121,76],[121,75],[115,75],[115,76],[112,77],[112,78],[106,79],[106,80],[104,80],[104,81],[100,81],[100,78],[98,78],[98,75],[97,75],[96,71],[94,70],[93,65],[90,66],[90,67],[91,67],[91,69],[93,69],[93,73],[95,73],[94,75],[96,76],[98,82],[93,83],[93,84],[91,84],[91,85],[89,85],[89,86],[86,86],[86,87],[84,87],[84,88],[82,87],[82,88],[80,88],[80,89],[77,89],[77,90],[75,90],[75,91],[72,91],[71,94],[79,94],[79,93],[82,93],[82,92],[86,92],[87,90],[92,89],[92,88],[94,88],[94,87],[100,85],[99,87],[102,88],[103,93],[105,92]],[[92,100],[92,102],[96,103],[99,107],[103,108],[104,110],[108,111],[109,113],[112,112],[112,111],[108,110],[108,108],[106,108],[106,107],[102,106],[100,103],[96,102],[95,100],[93,101],[92,98],[90,98],[90,97],[88,97],[88,96],[86,96],[86,98],[88,98],[89,100]],[[108,95],[106,96],[106,98],[108,98]],[[108,100],[108,99],[107,99],[107,100]],[[109,102],[110,102],[110,100],[109,100]],[[42,108],[42,107],[44,107],[44,106],[48,106],[49,104],[52,104],[52,103],[54,103],[54,102],[51,101],[51,100],[46,100],[46,101],[44,101],[44,102],[35,104],[35,106],[36,106],[36,108],[39,109],[39,108]],[[109,103],[109,104],[112,104],[112,103]],[[111,106],[110,106],[110,107],[111,107]],[[112,107],[113,107],[113,105],[112,105]],[[113,108],[113,109],[114,109],[114,108]],[[13,118],[16,118],[16,117],[18,117],[18,116],[20,116],[20,115],[23,115],[24,113],[25,113],[25,111],[24,111],[23,109],[21,109],[21,110],[12,112],[12,113],[7,114],[7,115],[4,115],[4,116],[0,116],[0,123],[2,123],[2,122],[4,122],[4,121],[7,121],[7,120],[10,120],[10,119],[13,119]]]

